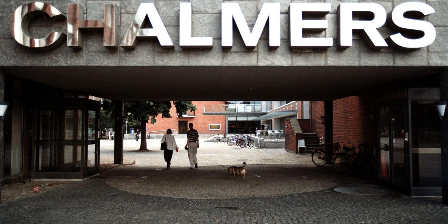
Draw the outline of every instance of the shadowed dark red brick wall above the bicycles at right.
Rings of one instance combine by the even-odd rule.
[[[370,96],[350,96],[333,100],[333,141],[338,137],[346,142],[375,142],[375,124],[369,113],[374,112],[373,98]]]

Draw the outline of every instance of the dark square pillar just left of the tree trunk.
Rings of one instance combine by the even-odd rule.
[[[123,114],[124,114],[124,102],[120,100],[114,101],[114,164],[123,164]]]

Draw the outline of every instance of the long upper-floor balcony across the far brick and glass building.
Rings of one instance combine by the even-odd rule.
[[[227,115],[227,116],[262,116],[267,114],[267,108],[260,105],[250,104],[221,104],[202,107],[204,115]]]

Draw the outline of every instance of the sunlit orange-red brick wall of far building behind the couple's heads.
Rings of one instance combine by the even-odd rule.
[[[171,118],[162,118],[157,116],[155,124],[146,124],[148,130],[146,131],[159,131],[166,129],[177,129],[179,132],[178,121],[188,121],[194,124],[194,129],[198,130],[199,134],[223,134],[225,133],[225,116],[224,115],[203,115],[202,107],[210,108],[211,106],[219,108],[221,104],[225,104],[225,101],[193,101],[193,104],[197,107],[194,117],[178,117],[176,113],[176,107],[172,105],[170,109]],[[209,130],[209,124],[220,124],[221,130]],[[188,127],[187,127],[188,129]]]

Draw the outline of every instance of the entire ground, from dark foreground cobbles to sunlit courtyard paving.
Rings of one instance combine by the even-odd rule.
[[[0,223],[429,224],[448,220],[448,207],[441,198],[409,198],[372,181],[341,176],[331,166],[310,164],[309,155],[201,142],[197,170],[187,168],[183,149],[173,155],[172,168],[166,169],[159,141],[149,141],[148,148],[154,151],[145,153],[133,152],[137,142],[125,142],[125,156],[134,165],[2,201]],[[112,143],[101,142],[103,162],[112,161],[108,159],[113,155]],[[179,146],[183,144],[178,140]],[[242,161],[248,163],[246,178],[232,177],[213,163],[228,166]],[[26,191],[35,183],[15,185]],[[343,194],[333,190],[338,187],[382,194]]]

